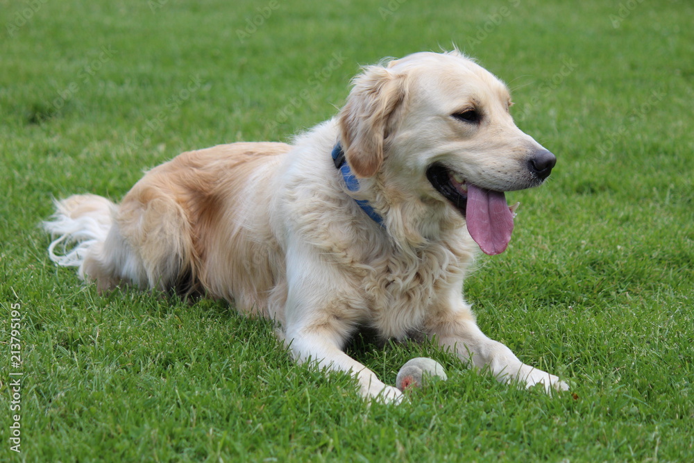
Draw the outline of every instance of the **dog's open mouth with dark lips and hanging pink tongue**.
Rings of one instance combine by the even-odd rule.
[[[465,217],[468,232],[482,252],[504,252],[514,230],[514,211],[504,192],[477,187],[448,167],[436,163],[427,169],[432,186]]]

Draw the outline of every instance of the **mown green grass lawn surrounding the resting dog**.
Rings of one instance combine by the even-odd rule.
[[[691,2],[390,6],[0,1],[0,460],[693,459]],[[346,376],[292,363],[266,321],[100,296],[49,261],[37,224],[51,197],[119,199],[180,151],[288,140],[335,114],[359,65],[454,42],[509,83],[518,125],[559,158],[547,185],[509,194],[514,239],[480,259],[466,296],[482,330],[571,393],[500,385],[428,345],[357,342],[390,384],[411,357],[448,371],[410,403],[369,407]]]

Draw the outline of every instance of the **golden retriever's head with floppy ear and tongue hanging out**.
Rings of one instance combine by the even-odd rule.
[[[357,176],[388,174],[455,208],[482,251],[498,254],[513,230],[504,192],[540,185],[556,162],[510,106],[507,87],[461,53],[415,53],[355,78],[341,142]]]

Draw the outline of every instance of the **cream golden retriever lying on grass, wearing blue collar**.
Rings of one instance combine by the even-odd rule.
[[[367,398],[403,394],[344,353],[360,327],[566,390],[486,337],[462,295],[476,249],[498,254],[511,238],[504,192],[540,185],[556,162],[509,106],[507,87],[459,51],[364,67],[337,117],[291,145],[180,154],[118,205],[57,201],[49,253],[99,291],[203,294],[268,317],[298,362],[350,373]]]

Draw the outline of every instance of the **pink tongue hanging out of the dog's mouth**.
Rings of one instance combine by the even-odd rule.
[[[503,192],[468,184],[465,216],[468,232],[483,253],[496,255],[506,250],[514,230],[514,216]]]

